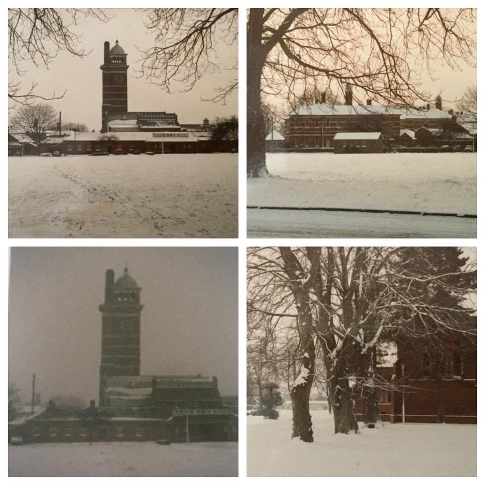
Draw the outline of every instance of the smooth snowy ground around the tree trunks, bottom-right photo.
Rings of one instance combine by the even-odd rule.
[[[312,411],[314,443],[291,440],[292,411],[248,416],[248,476],[476,476],[476,426],[389,424],[333,435]]]

